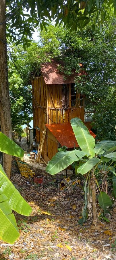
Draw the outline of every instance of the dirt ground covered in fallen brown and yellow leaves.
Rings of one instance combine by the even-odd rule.
[[[26,138],[22,138],[20,146],[28,150]],[[45,172],[45,165],[29,159],[28,154],[24,155],[24,161],[35,173],[44,175],[44,182],[37,185],[31,177],[23,178],[13,157],[11,181],[32,207],[32,213],[29,217],[15,213],[20,237],[14,245],[0,242],[0,259],[116,260],[113,240],[116,208],[110,223],[88,221],[80,226],[82,187],[77,185],[71,193],[60,192],[56,177],[63,179],[65,171],[51,176]],[[68,174],[74,178],[72,171]]]

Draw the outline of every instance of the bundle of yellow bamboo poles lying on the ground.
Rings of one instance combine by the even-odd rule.
[[[35,173],[32,172],[32,170],[28,167],[28,164],[26,164],[23,161],[19,161],[18,159],[16,159],[16,161],[17,161],[19,171],[23,177],[29,178],[29,175],[31,177],[34,177]]]

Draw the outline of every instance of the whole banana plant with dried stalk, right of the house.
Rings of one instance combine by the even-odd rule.
[[[54,175],[74,163],[76,174],[87,175],[84,184],[85,200],[82,219],[79,221],[80,224],[86,221],[87,216],[93,220],[97,218],[96,191],[98,192],[98,202],[102,216],[108,221],[108,207],[112,203],[110,197],[107,195],[107,177],[109,172],[114,174],[113,188],[114,194],[116,194],[116,142],[103,140],[95,144],[95,139],[90,135],[88,128],[80,118],[72,118],[70,122],[80,148],[56,153],[51,161],[49,161],[46,171]],[[97,180],[98,173],[103,182],[101,187]]]

